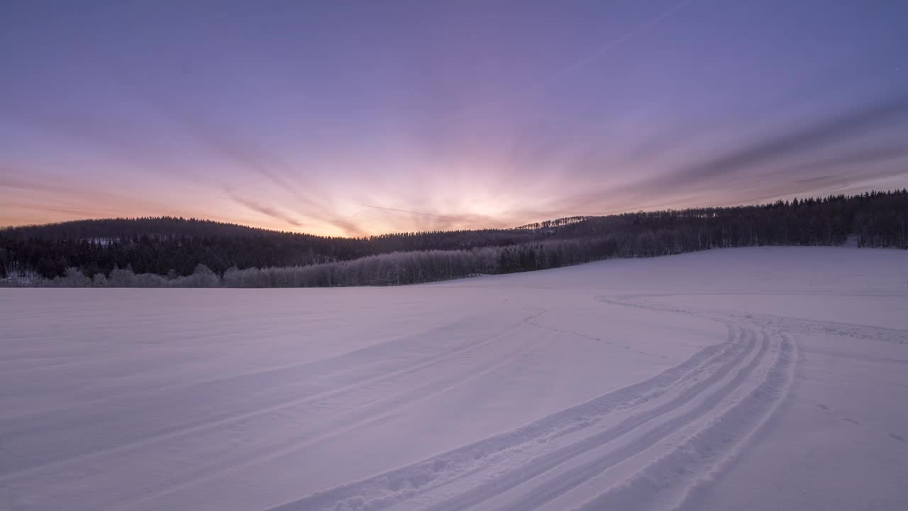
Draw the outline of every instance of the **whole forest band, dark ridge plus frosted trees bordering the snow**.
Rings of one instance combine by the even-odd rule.
[[[0,230],[6,286],[394,286],[755,245],[908,248],[908,191],[361,238],[173,217]]]

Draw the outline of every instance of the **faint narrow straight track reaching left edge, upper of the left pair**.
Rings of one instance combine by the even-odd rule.
[[[518,323],[517,326],[508,328],[507,331],[505,331],[502,334],[498,334],[497,336],[479,339],[478,341],[471,342],[467,345],[458,346],[457,348],[455,348],[451,351],[444,352],[437,356],[428,356],[423,359],[420,359],[419,363],[415,366],[408,366],[408,367],[404,367],[398,371],[394,371],[391,373],[382,373],[382,374],[379,374],[376,376],[363,378],[361,380],[355,381],[354,383],[351,383],[350,385],[341,386],[340,388],[333,388],[331,390],[327,390],[327,391],[324,391],[321,393],[312,394],[309,396],[303,396],[301,398],[294,398],[291,400],[283,400],[281,402],[278,402],[278,403],[270,405],[270,406],[264,406],[262,408],[257,408],[257,409],[243,412],[240,414],[234,414],[234,415],[230,415],[230,416],[219,416],[213,420],[205,420],[205,421],[191,423],[188,426],[181,426],[181,427],[173,428],[171,430],[157,433],[152,436],[145,436],[143,438],[133,440],[128,443],[123,443],[123,444],[119,444],[119,445],[115,445],[115,446],[109,446],[109,447],[104,447],[101,449],[96,449],[96,450],[93,450],[93,451],[90,451],[90,452],[87,452],[84,454],[80,454],[77,456],[70,456],[70,457],[66,457],[63,459],[54,460],[53,462],[46,463],[44,465],[31,466],[31,467],[28,467],[28,468],[25,468],[22,470],[17,470],[17,471],[10,472],[10,473],[0,476],[0,482],[15,481],[16,479],[19,479],[21,477],[33,476],[35,474],[41,473],[48,469],[52,469],[52,468],[56,468],[56,467],[60,467],[60,466],[68,466],[68,465],[71,465],[74,463],[84,462],[85,460],[94,459],[94,458],[97,458],[98,456],[109,456],[109,455],[115,454],[115,453],[128,452],[130,450],[133,450],[133,449],[136,449],[139,447],[152,445],[155,442],[160,442],[163,440],[167,440],[167,439],[171,439],[171,438],[175,438],[175,437],[179,437],[179,436],[190,435],[193,433],[202,432],[202,431],[212,429],[215,427],[219,427],[219,426],[225,426],[228,424],[232,424],[234,422],[242,421],[247,418],[252,418],[255,416],[262,416],[262,415],[269,414],[272,412],[280,411],[280,410],[289,408],[291,406],[299,406],[299,405],[303,405],[306,403],[311,403],[312,401],[317,401],[319,399],[324,399],[326,397],[340,395],[343,392],[348,392],[350,390],[354,390],[361,386],[367,386],[367,385],[370,385],[370,384],[373,384],[376,382],[394,378],[396,376],[401,376],[401,375],[409,374],[409,373],[412,373],[415,371],[419,371],[425,367],[429,367],[429,366],[438,364],[439,362],[447,360],[453,356],[458,356],[462,352],[467,352],[474,348],[487,346],[491,343],[494,343],[495,341],[497,341],[498,339],[500,339],[502,337],[509,336],[509,335],[513,334],[514,332],[518,331],[520,328],[527,326],[533,319],[537,318],[538,316],[541,316],[545,312],[546,312],[545,310],[541,310],[536,314],[527,316],[527,317],[523,318]]]

